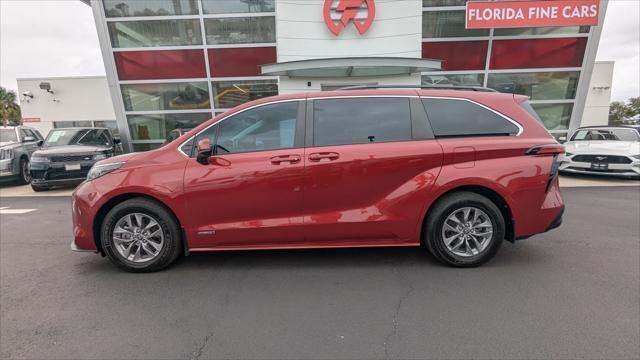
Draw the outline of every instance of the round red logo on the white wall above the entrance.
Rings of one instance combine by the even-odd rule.
[[[335,4],[335,6],[334,6]],[[374,0],[325,0],[324,22],[335,35],[353,22],[360,34],[364,34],[376,17]]]

